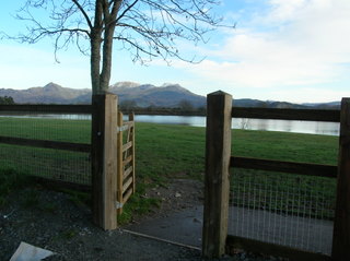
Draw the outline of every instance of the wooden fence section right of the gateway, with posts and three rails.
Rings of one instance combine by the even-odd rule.
[[[202,252],[219,258],[225,247],[279,254],[294,260],[329,260],[330,257],[257,240],[228,236],[230,167],[282,171],[337,178],[332,260],[350,260],[350,98],[341,110],[232,108],[232,96],[223,92],[207,97],[206,188]],[[236,157],[231,155],[232,117],[340,122],[338,166]]]

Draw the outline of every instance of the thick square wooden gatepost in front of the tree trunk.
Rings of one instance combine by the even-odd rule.
[[[117,228],[117,105],[114,94],[92,97],[92,215],[103,229]]]

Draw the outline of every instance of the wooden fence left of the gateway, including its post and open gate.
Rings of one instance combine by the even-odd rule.
[[[92,105],[0,105],[0,111],[92,115],[91,144],[1,135],[0,143],[90,153],[91,187],[40,179],[49,186],[91,191],[94,222],[104,229],[115,229],[117,213],[121,213],[124,204],[135,193],[133,115],[129,116],[128,122],[122,122],[122,114],[118,112],[117,96],[94,95]],[[128,131],[126,143],[122,140],[125,131]]]

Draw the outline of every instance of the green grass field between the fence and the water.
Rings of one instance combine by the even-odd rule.
[[[91,122],[88,120],[0,118],[0,135],[90,143],[90,124]],[[133,197],[133,202],[129,209],[142,213],[150,205],[158,204],[155,200],[143,200],[140,195],[150,187],[165,186],[168,179],[202,179],[205,171],[205,128],[137,123],[138,193],[137,197]],[[233,130],[232,151],[236,156],[336,165],[338,138],[287,132]],[[23,167],[19,166],[20,164],[26,165]],[[27,170],[31,174],[44,168],[45,175],[43,176],[52,175],[58,178],[63,170],[67,170],[65,175],[72,178],[73,181],[83,179],[89,182],[90,180],[90,162],[86,153],[0,144],[0,169],[3,171],[9,168],[11,173],[25,173]],[[326,187],[329,190],[326,195],[334,197],[334,179],[305,178],[296,175],[283,176],[242,169],[233,170],[232,177],[240,178],[243,181],[254,177],[257,183],[262,182],[262,179],[265,180],[264,182],[267,182],[267,177],[275,181],[277,180],[276,177],[283,180],[292,180],[291,182],[282,182],[281,180],[277,182],[280,191],[282,191],[281,193],[284,191],[283,187],[295,186],[296,180],[296,183],[304,186],[306,191],[312,190],[318,193],[318,190],[324,190]],[[259,177],[261,181],[258,181]],[[319,182],[322,186],[318,186]],[[234,186],[235,182],[232,185],[233,189],[235,188]],[[318,189],[317,186],[319,187]],[[246,204],[249,205],[248,202]],[[126,213],[125,220],[128,220],[130,211]]]

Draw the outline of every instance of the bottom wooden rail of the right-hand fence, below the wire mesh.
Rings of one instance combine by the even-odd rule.
[[[294,249],[285,246],[280,246],[270,242],[262,242],[255,239],[248,239],[237,236],[228,236],[226,240],[226,251],[229,254],[233,254],[234,249],[244,249],[248,252],[259,252],[268,256],[276,256],[288,258],[288,260],[295,261],[327,261],[331,260],[330,257],[322,253],[313,253],[308,251],[303,251],[300,249]]]

